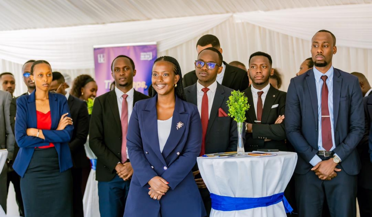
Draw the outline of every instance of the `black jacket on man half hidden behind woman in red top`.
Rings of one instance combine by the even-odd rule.
[[[71,156],[74,167],[89,167],[89,160],[85,153],[84,144],[89,133],[89,114],[87,103],[75,96],[68,96],[68,107],[70,108],[71,118],[74,122],[74,131],[71,137],[70,146]]]

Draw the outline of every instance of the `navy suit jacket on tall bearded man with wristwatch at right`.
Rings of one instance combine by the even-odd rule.
[[[356,175],[360,160],[355,148],[364,134],[362,90],[357,77],[337,68],[333,75],[333,117],[333,151],[341,158],[342,169]],[[287,138],[299,155],[295,172],[305,174],[318,152],[318,100],[312,69],[291,79],[284,120]]]

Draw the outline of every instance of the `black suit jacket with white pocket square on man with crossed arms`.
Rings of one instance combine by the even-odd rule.
[[[279,115],[284,115],[286,92],[275,89],[271,84],[269,85],[270,88],[263,104],[260,124],[254,122],[257,121],[257,117],[254,110],[251,87],[244,90],[244,94],[248,97],[248,104],[250,105],[250,108],[246,112],[246,122],[252,124],[252,133],[246,134],[246,144],[244,145],[246,151],[257,149],[288,150],[285,144],[284,121],[281,124],[274,124]],[[265,139],[270,139],[270,141],[265,142]]]

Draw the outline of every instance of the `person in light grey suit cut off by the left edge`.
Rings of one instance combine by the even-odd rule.
[[[0,149],[8,150],[7,162],[0,173],[0,205],[6,212],[6,180],[9,159],[13,158],[15,137],[10,127],[9,107],[12,101],[12,95],[9,92],[0,90]]]

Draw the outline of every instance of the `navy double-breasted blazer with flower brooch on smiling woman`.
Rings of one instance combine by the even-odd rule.
[[[156,103],[157,95],[138,101],[129,120],[126,146],[134,173],[124,216],[203,217],[205,208],[191,172],[202,142],[198,107],[176,96],[170,135],[160,152]],[[154,176],[169,182],[160,201],[148,195],[147,182]]]

